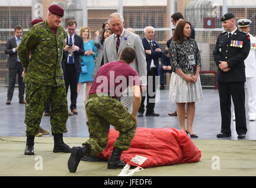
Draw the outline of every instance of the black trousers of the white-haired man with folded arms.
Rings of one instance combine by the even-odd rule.
[[[155,98],[156,98],[156,88],[157,88],[157,69],[150,68],[147,71],[147,106],[146,106],[146,113],[154,112],[155,108]],[[158,78],[159,79],[159,78]],[[140,103],[139,112],[144,113],[145,111],[145,93],[142,93],[142,102]]]

